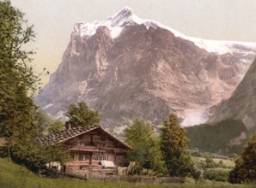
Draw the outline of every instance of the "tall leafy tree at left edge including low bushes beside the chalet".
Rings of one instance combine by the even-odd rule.
[[[52,146],[40,150],[42,147],[35,143],[42,132],[42,116],[32,95],[40,79],[30,65],[34,52],[23,48],[34,39],[33,26],[27,26],[23,16],[8,0],[0,1],[0,137],[5,138],[9,156],[16,162],[39,167],[39,163],[52,159],[61,161],[64,155],[58,150],[51,158],[52,153],[45,151],[52,151]]]

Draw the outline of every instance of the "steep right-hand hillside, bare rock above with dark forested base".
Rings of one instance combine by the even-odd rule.
[[[232,96],[203,125],[188,127],[190,147],[224,154],[240,153],[256,131],[256,60]]]

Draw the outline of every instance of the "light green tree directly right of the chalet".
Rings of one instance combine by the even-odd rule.
[[[160,150],[159,139],[155,136],[153,126],[144,120],[133,120],[125,129],[125,142],[131,146],[128,159],[138,162],[144,168],[163,172],[164,162]]]

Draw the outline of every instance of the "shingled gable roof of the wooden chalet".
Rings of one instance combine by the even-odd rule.
[[[70,130],[55,132],[52,134],[48,134],[44,137],[36,138],[36,142],[41,145],[52,145],[63,143],[64,141],[69,140],[70,138],[75,138],[83,133],[93,131],[95,129],[101,129],[101,131],[107,133],[111,138],[118,141],[120,144],[125,145],[125,147],[131,149],[130,146],[115,138],[112,134],[104,130],[101,126],[83,126],[83,127],[72,127]]]

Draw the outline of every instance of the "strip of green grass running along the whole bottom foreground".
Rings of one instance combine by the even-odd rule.
[[[1,188],[133,188],[133,187],[253,187],[250,185],[229,185],[216,181],[201,181],[195,184],[194,179],[186,178],[184,185],[137,185],[125,182],[97,182],[78,179],[40,178],[27,170],[26,167],[14,164],[6,158],[0,158],[0,187]]]

